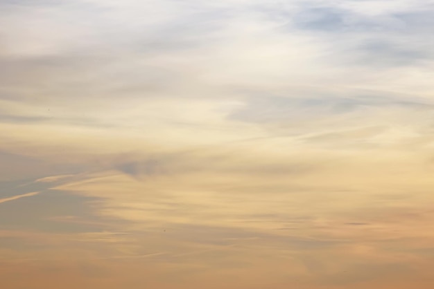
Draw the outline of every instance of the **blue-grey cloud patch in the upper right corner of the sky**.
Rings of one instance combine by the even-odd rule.
[[[302,31],[324,41],[329,61],[336,64],[389,68],[433,59],[433,16],[433,6],[372,16],[338,5],[306,3],[277,21],[283,23],[282,32]]]

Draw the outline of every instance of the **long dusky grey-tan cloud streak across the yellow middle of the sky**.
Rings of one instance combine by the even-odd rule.
[[[251,140],[252,142],[254,140]],[[178,174],[191,174],[193,172],[220,172],[236,174],[238,176],[300,176],[312,174],[322,169],[322,164],[315,160],[258,160],[243,155],[236,149],[225,151],[215,147],[204,147],[192,151],[171,151],[157,153],[155,156],[143,156],[134,153],[126,156],[108,156],[105,160],[105,169],[116,169],[133,178],[147,178],[152,176],[176,176]],[[236,191],[239,187],[227,188]],[[281,190],[280,187],[249,187],[250,191],[269,192]],[[300,188],[299,188],[300,189]],[[284,189],[285,191],[285,189]],[[286,191],[285,191],[286,192]]]

